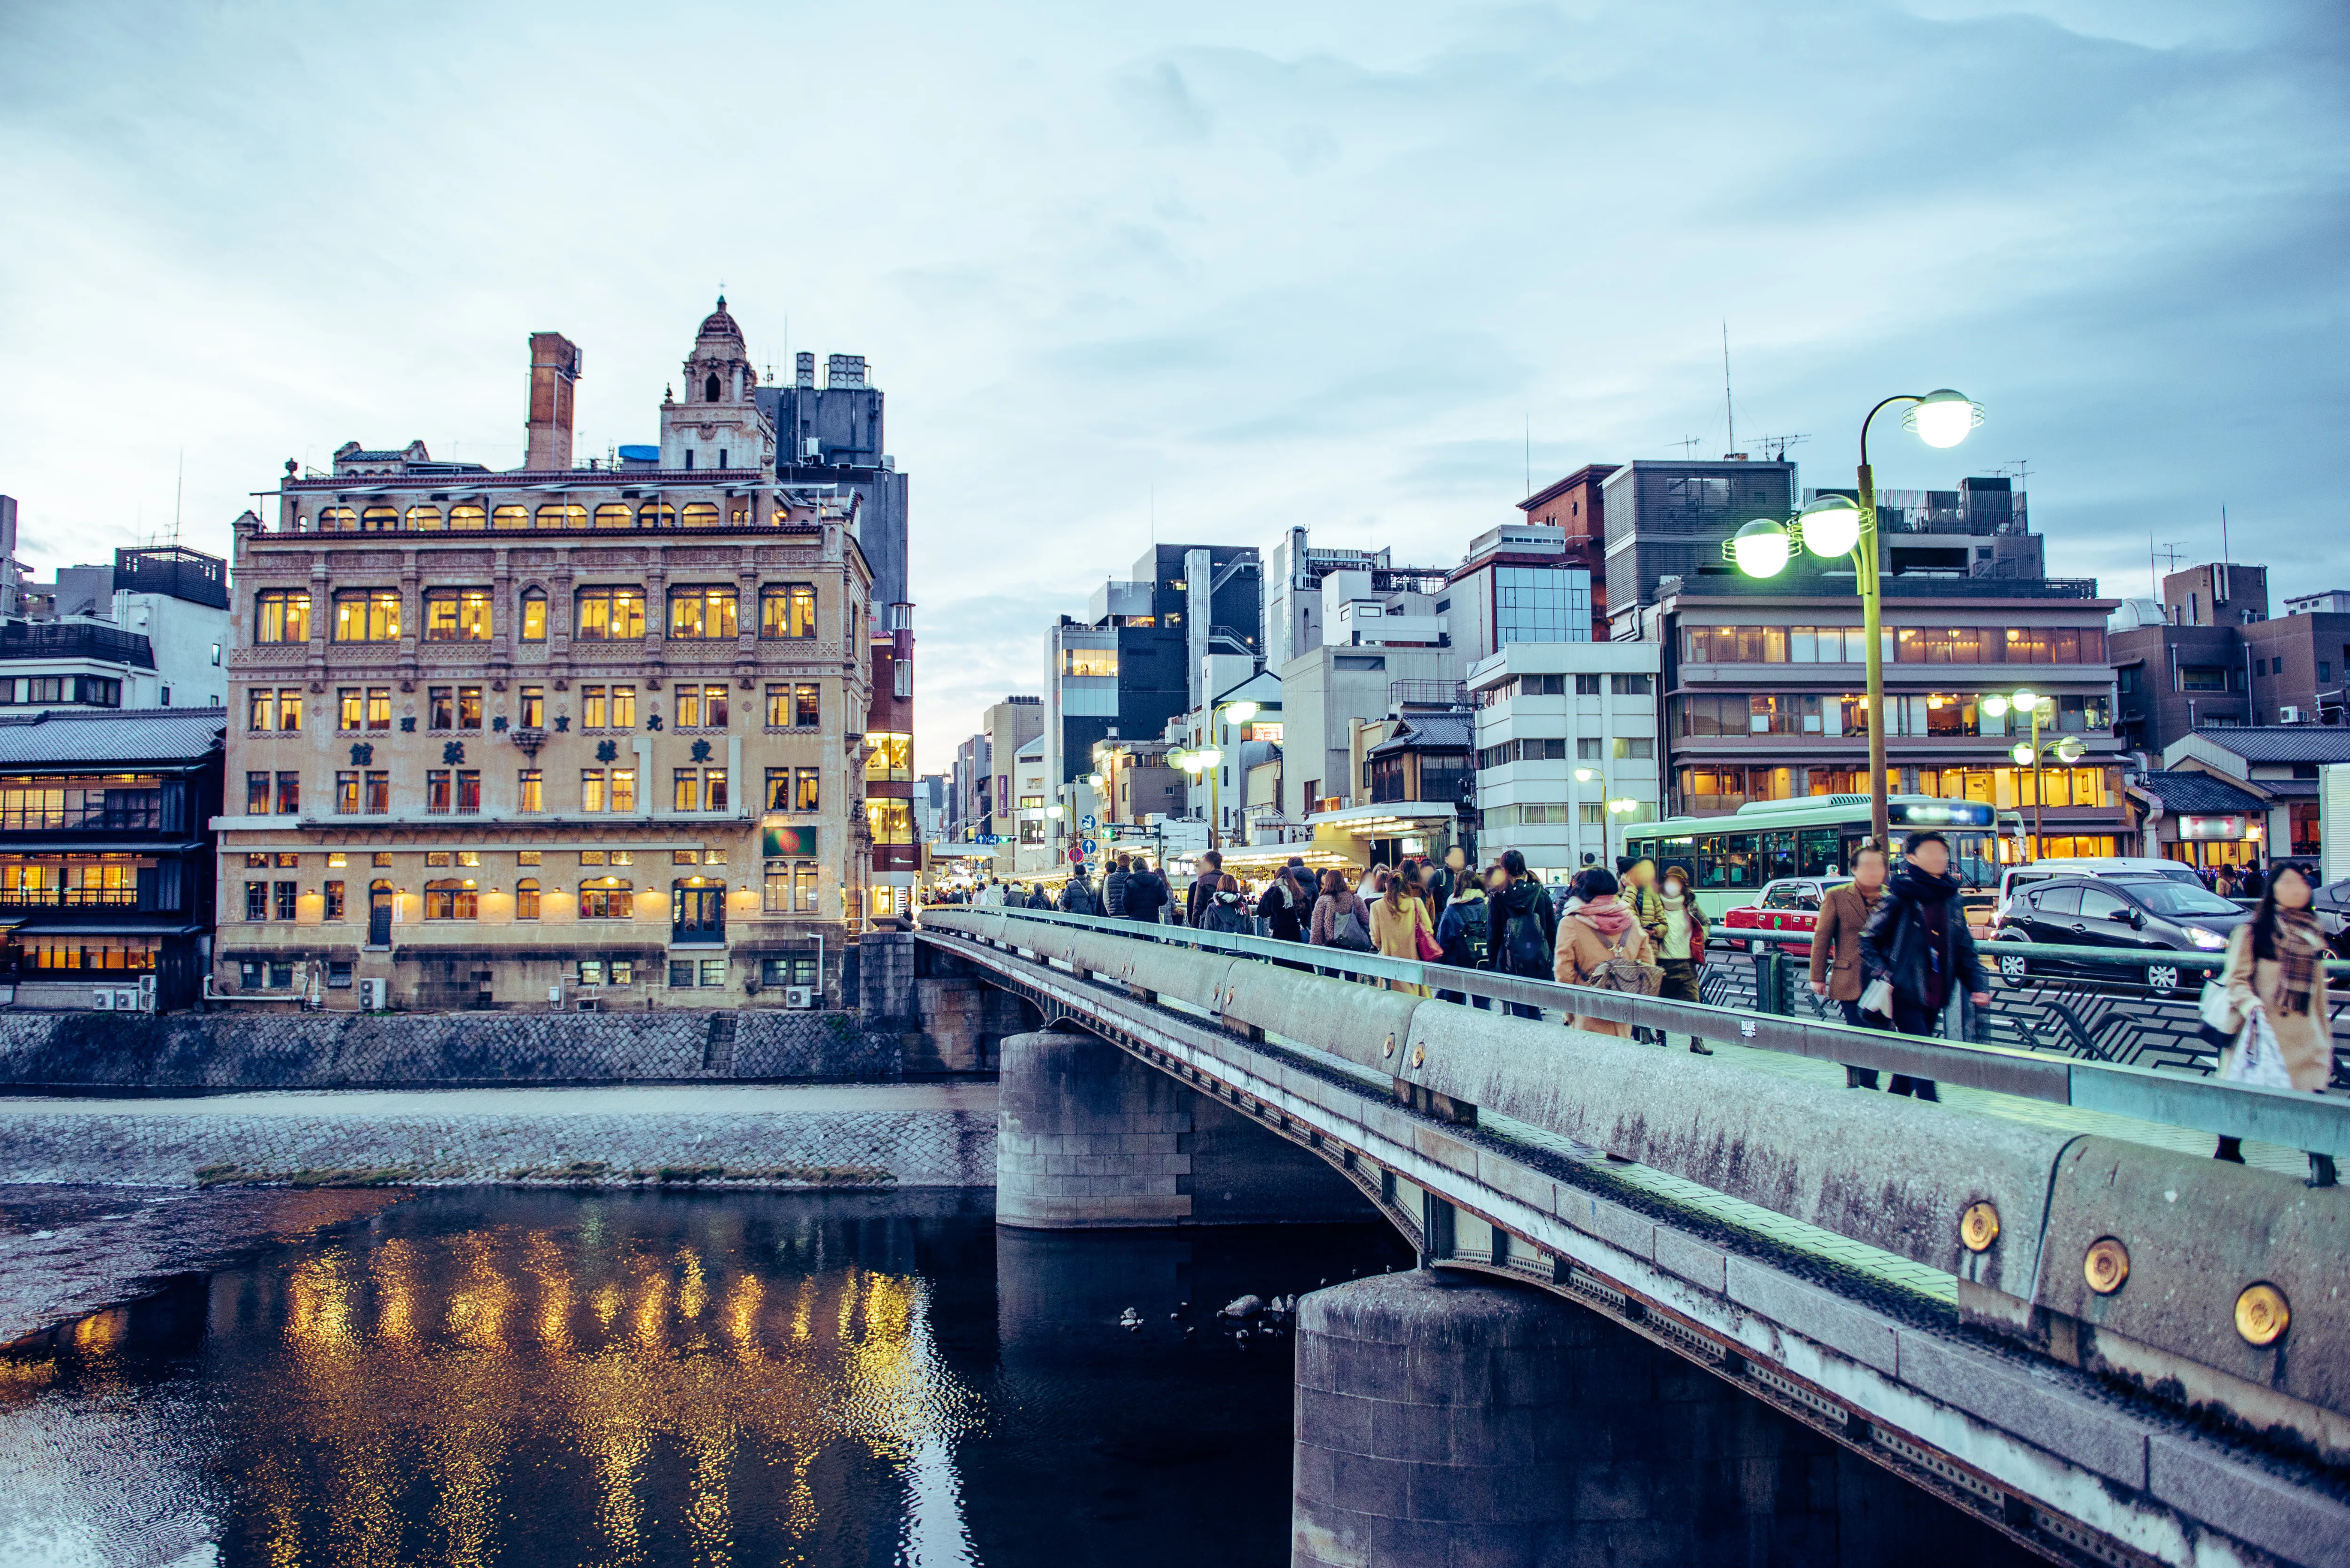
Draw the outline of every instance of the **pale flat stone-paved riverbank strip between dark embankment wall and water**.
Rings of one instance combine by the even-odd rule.
[[[989,1187],[989,1084],[0,1100],[0,1180]]]

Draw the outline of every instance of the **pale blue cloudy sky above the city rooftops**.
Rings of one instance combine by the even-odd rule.
[[[1953,386],[2049,569],[2350,588],[2350,12],[0,0],[0,494],[47,571],[228,550],[345,440],[649,442],[724,289],[862,353],[912,475],[916,766],[1154,541],[1459,559],[1591,461]],[[1723,334],[1730,339],[1725,411]],[[1694,442],[1694,444],[1685,444]]]

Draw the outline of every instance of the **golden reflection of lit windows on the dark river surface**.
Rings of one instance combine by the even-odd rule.
[[[846,1265],[768,1286],[738,1234],[677,1246],[609,1215],[592,1246],[580,1227],[491,1225],[258,1276],[284,1349],[254,1413],[273,1458],[244,1474],[258,1556],[486,1566],[552,1509],[595,1537],[583,1561],[686,1542],[710,1568],[778,1547],[813,1561],[825,1450],[909,1474],[978,1399],[935,1356],[916,1276]],[[754,1523],[764,1547],[745,1556]]]

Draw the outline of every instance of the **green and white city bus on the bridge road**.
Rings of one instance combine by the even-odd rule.
[[[2002,851],[2014,858],[2023,820],[1979,799],[1894,795],[1887,802],[1894,844],[1913,827],[1934,827],[1950,839],[1950,870],[1967,886],[1995,889]],[[2002,827],[2009,844],[2000,844]],[[1668,816],[1624,830],[1626,856],[1652,856],[1657,867],[1678,865],[1697,889],[1708,919],[1753,903],[1779,877],[1835,877],[1852,870],[1852,851],[1868,839],[1866,795],[1805,795],[1758,799],[1727,816]]]

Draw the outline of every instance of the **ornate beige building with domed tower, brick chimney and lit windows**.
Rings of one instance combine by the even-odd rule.
[[[545,461],[580,360],[531,350]],[[719,301],[658,458],[287,463],[235,541],[223,990],[837,1001],[867,912],[872,569],[853,491],[778,482],[752,390]]]

